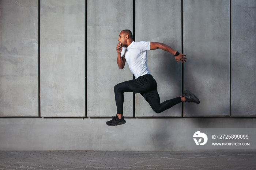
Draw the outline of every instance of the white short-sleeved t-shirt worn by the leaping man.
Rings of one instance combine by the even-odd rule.
[[[123,47],[121,56],[126,59],[135,78],[150,74],[147,68],[147,50],[150,50],[149,41],[133,41],[127,48]]]

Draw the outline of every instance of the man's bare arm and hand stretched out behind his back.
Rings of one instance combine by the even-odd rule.
[[[176,54],[177,51],[173,50],[171,47],[167,46],[164,43],[159,43],[159,42],[150,42],[150,50],[156,50],[156,49],[162,49],[165,50],[173,55]],[[179,55],[175,56],[175,59],[177,62],[181,61],[182,63],[186,62],[186,55],[180,53]]]

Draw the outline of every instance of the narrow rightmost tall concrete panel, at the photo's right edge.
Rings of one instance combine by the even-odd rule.
[[[231,116],[256,116],[256,1],[231,6]]]

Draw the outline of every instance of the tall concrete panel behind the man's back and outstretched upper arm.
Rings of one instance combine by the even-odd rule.
[[[136,41],[162,42],[181,52],[181,1],[136,0]],[[163,50],[147,51],[147,65],[158,84],[161,102],[181,96],[181,62]],[[162,113],[155,113],[147,101],[136,94],[136,117],[180,117],[181,103]]]

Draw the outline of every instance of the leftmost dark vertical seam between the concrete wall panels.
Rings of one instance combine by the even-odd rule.
[[[41,117],[41,89],[40,89],[40,13],[41,13],[41,1],[38,0],[38,117]]]

